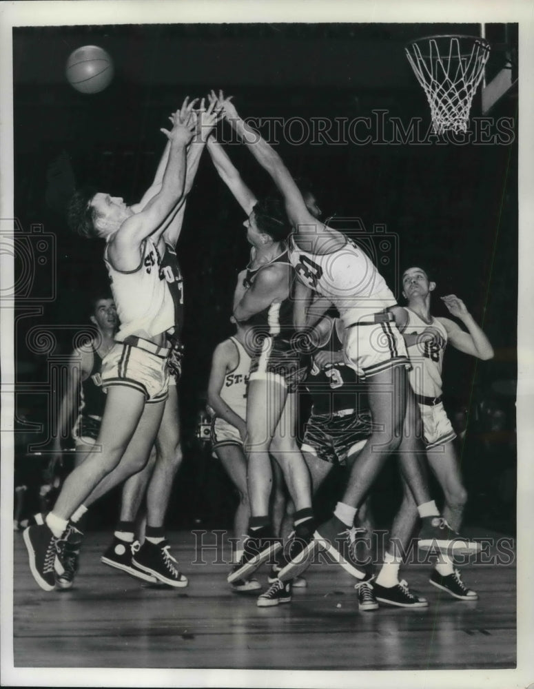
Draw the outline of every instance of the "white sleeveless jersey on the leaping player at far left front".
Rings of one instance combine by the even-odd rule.
[[[141,245],[138,267],[132,271],[121,271],[107,260],[105,247],[104,263],[121,323],[115,336],[118,342],[129,335],[152,338],[174,328],[174,302],[168,286],[168,282],[174,278],[161,269],[161,258],[158,248],[147,237]]]

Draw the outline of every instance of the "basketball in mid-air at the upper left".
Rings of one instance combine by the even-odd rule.
[[[76,91],[99,93],[113,79],[113,62],[109,54],[98,45],[76,48],[67,60],[65,76]]]

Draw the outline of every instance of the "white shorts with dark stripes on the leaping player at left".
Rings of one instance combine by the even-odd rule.
[[[167,347],[141,338],[116,342],[102,362],[102,388],[131,387],[145,395],[145,402],[163,402],[169,389],[168,354]]]

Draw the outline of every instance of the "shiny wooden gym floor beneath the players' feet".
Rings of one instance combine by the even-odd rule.
[[[88,534],[72,590],[45,593],[32,579],[21,534],[14,534],[15,667],[515,667],[514,563],[464,566],[464,581],[480,595],[472,602],[433,588],[428,565],[407,566],[402,576],[427,597],[429,608],[367,613],[358,612],[349,575],[333,564],[314,564],[306,573],[308,588],[294,590],[291,604],[258,608],[256,592],[229,590],[226,564],[192,564],[191,533],[169,535],[189,577],[182,589],[143,585],[101,564],[110,537]],[[214,554],[207,551],[205,559]],[[256,577],[265,584],[267,568]]]

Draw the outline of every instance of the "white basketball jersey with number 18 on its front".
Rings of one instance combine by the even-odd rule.
[[[407,347],[408,356],[412,365],[409,371],[410,383],[413,391],[424,397],[439,397],[442,394],[441,372],[443,367],[443,355],[447,345],[447,331],[437,318],[432,318],[430,323],[424,322],[417,313],[406,308],[408,323],[403,335],[420,335],[427,328],[433,328],[435,338],[427,342],[417,342]]]

